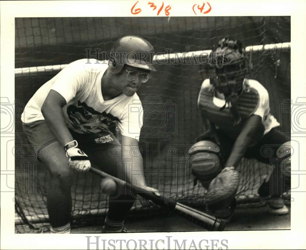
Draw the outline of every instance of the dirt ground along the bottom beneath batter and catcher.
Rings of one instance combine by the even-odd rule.
[[[129,233],[206,231],[178,215],[126,221],[125,227]],[[101,228],[102,226],[80,227],[72,229],[71,233],[100,233]],[[290,229],[290,207],[289,214],[286,215],[270,215],[267,206],[237,208],[231,222],[225,227],[226,231],[273,229]]]

